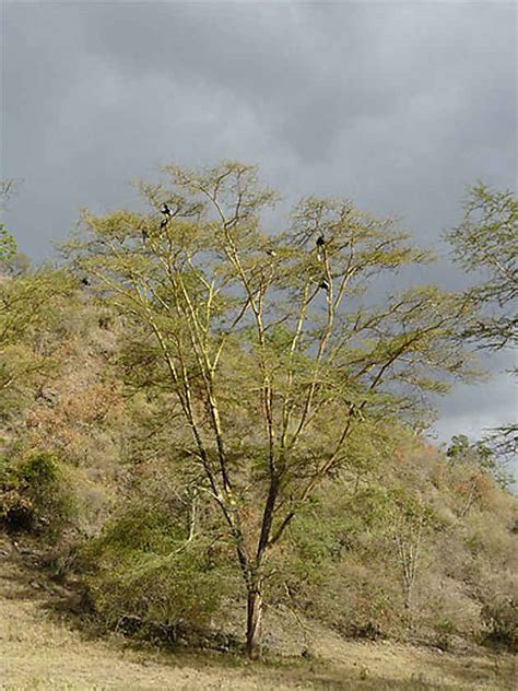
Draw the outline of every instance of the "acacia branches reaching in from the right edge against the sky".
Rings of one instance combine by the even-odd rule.
[[[460,225],[446,233],[454,259],[469,273],[482,273],[470,289],[482,312],[463,330],[480,349],[497,351],[515,344],[518,327],[518,199],[511,191],[486,185],[470,187]],[[518,425],[507,423],[488,437],[497,454],[516,453]]]

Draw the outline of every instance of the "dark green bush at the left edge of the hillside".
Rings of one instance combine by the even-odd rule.
[[[57,538],[75,513],[69,482],[54,456],[0,458],[0,520],[8,529]]]

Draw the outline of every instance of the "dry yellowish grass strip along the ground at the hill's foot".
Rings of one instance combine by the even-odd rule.
[[[393,643],[349,642],[316,628],[307,632],[311,660],[285,656],[261,665],[233,656],[167,654],[119,637],[89,639],[67,620],[49,616],[49,607],[63,593],[44,581],[30,560],[0,540],[3,691],[515,688],[516,660],[510,655],[482,651],[459,656]],[[286,653],[299,651],[294,642],[283,647]]]

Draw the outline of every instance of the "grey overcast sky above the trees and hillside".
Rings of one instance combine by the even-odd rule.
[[[79,210],[136,203],[161,164],[258,163],[289,199],[342,196],[436,246],[466,185],[516,185],[507,2],[2,3],[8,227],[35,260]],[[440,263],[447,288],[459,274]],[[493,367],[509,364],[509,358]],[[514,414],[511,383],[461,387],[439,438]]]

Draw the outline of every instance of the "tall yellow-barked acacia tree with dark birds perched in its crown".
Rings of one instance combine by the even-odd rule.
[[[172,455],[221,511],[256,658],[269,565],[297,511],[355,430],[462,375],[452,337],[471,307],[436,288],[368,297],[379,274],[428,256],[349,201],[303,199],[267,234],[276,196],[255,167],[164,173],[139,184],[150,214],[85,211],[66,251],[125,315],[129,383],[169,394]]]

